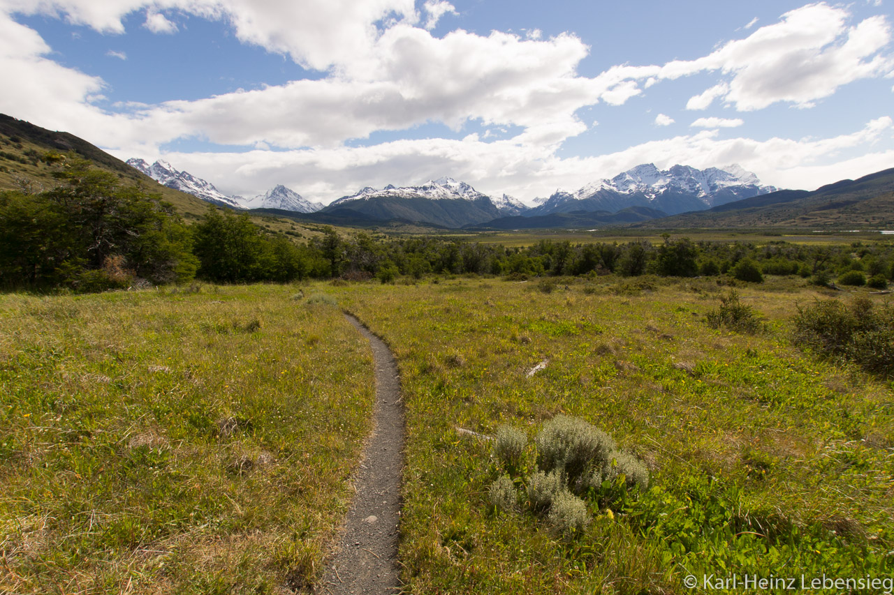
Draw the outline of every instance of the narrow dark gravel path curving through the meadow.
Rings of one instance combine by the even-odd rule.
[[[394,356],[382,339],[354,316],[345,317],[373,348],[373,433],[354,483],[357,494],[342,539],[316,592],[386,595],[400,591],[397,545],[404,441],[401,385]]]

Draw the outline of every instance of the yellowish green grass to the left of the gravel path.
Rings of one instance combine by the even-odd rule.
[[[315,580],[373,367],[337,307],[295,294],[0,297],[0,592]]]

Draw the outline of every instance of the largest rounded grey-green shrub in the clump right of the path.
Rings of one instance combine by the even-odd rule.
[[[545,472],[559,470],[569,485],[596,462],[615,450],[614,440],[577,417],[556,415],[544,423],[536,437],[537,464]]]

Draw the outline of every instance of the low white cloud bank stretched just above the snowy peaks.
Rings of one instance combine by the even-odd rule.
[[[274,183],[283,183],[305,197],[328,203],[363,186],[418,183],[450,172],[485,193],[505,192],[529,200],[549,196],[557,188],[578,189],[640,163],[655,163],[662,169],[677,163],[699,168],[739,163],[757,173],[763,183],[815,189],[890,167],[894,155],[890,150],[856,158],[839,155],[848,149],[871,147],[892,131],[890,117],[868,122],[863,130],[851,134],[821,139],[718,139],[716,130],[703,130],[608,155],[569,158],[512,138],[484,142],[477,135],[461,140],[397,140],[375,147],[143,156],[164,156],[178,169],[212,180],[223,192],[242,196],[254,196]]]

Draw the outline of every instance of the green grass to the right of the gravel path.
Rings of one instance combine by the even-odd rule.
[[[620,295],[617,280],[600,282],[548,294],[495,280],[342,289],[401,368],[407,591],[687,592],[690,573],[889,576],[892,388],[791,346],[795,302],[814,289],[775,279],[741,289],[766,318],[765,332],[743,335],[706,323],[724,295],[713,281]],[[509,423],[532,439],[557,414],[609,432],[652,474],[637,498],[589,499],[594,521],[573,541],[536,515],[494,513],[489,488],[503,471],[487,440],[457,431]],[[533,457],[532,447],[516,482]]]

